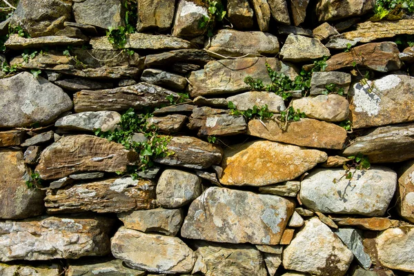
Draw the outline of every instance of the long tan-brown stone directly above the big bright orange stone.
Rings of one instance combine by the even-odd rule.
[[[286,128],[286,124],[274,119],[262,121],[266,126],[258,119],[250,120],[247,134],[297,146],[336,150],[342,150],[346,141],[346,130],[326,121],[303,118],[299,121],[289,121]]]

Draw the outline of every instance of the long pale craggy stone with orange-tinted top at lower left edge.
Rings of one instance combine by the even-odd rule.
[[[108,217],[37,217],[0,221],[0,260],[77,259],[110,253]]]

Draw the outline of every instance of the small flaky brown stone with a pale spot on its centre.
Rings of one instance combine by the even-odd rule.
[[[229,136],[246,132],[243,115],[230,115],[228,110],[209,107],[194,108],[188,118],[190,130],[198,130],[199,136]]]

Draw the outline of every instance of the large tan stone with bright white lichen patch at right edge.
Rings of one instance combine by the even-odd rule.
[[[414,77],[386,75],[365,85],[353,83],[349,96],[354,129],[414,121]]]

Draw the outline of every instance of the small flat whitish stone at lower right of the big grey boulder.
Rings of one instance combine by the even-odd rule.
[[[102,131],[115,130],[121,115],[115,111],[81,112],[61,117],[55,126],[64,130]]]

